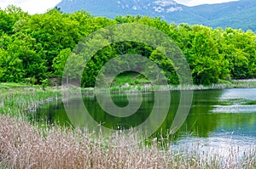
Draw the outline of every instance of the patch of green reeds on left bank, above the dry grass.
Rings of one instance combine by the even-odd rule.
[[[12,116],[35,111],[38,106],[55,99],[61,99],[61,91],[40,86],[27,87],[23,84],[1,83],[0,112]]]

